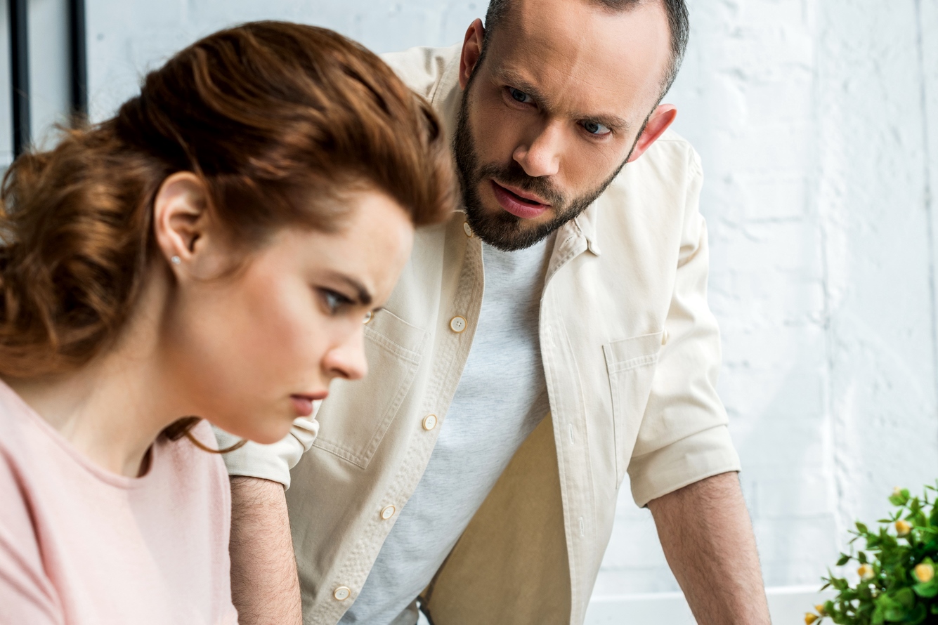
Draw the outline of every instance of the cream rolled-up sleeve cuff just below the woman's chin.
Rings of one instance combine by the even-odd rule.
[[[233,452],[222,454],[228,475],[262,478],[280,482],[284,488],[289,488],[290,469],[310,450],[318,433],[319,422],[314,418],[299,417],[295,419],[290,433],[278,442],[262,445],[249,440]],[[215,428],[215,437],[219,441],[219,449],[231,447],[240,441],[218,427]]]

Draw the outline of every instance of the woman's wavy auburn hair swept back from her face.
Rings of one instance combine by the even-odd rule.
[[[0,375],[67,372],[113,342],[158,253],[153,202],[175,171],[204,182],[206,210],[248,251],[283,227],[339,228],[352,189],[386,193],[415,226],[454,205],[439,121],[375,54],[295,23],[220,31],[149,73],[112,119],[10,166]]]

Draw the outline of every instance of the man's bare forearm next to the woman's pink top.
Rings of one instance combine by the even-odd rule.
[[[302,625],[283,486],[232,477],[232,598],[240,625]]]

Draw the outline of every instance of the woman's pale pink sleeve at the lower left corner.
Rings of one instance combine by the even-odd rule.
[[[39,555],[23,484],[0,449],[0,623],[64,623]]]

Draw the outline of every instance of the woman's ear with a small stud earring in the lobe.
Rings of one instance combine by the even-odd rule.
[[[177,171],[159,186],[153,201],[153,231],[163,257],[187,266],[204,243],[207,227],[204,183],[191,171]]]

